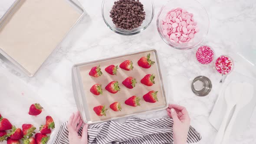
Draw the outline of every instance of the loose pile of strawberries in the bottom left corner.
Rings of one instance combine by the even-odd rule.
[[[39,104],[30,106],[29,115],[41,114],[43,108]],[[0,114],[0,142],[7,141],[7,144],[46,144],[49,137],[46,134],[51,133],[51,128],[55,128],[53,118],[46,116],[46,123],[39,128],[40,133],[36,133],[36,128],[32,124],[23,124],[22,130],[16,128],[7,118]],[[35,134],[36,133],[36,134]],[[35,134],[35,137],[33,137]]]

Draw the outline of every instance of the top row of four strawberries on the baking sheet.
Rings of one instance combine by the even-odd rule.
[[[151,61],[150,59],[150,53],[147,56],[141,57],[141,59],[138,60],[138,65],[144,69],[149,69],[151,65],[154,65],[154,61]],[[126,71],[131,71],[133,69],[133,62],[131,60],[125,60],[122,62],[119,67],[121,69],[124,69]],[[109,65],[105,68],[105,71],[108,72],[110,75],[117,75],[117,69],[118,65]],[[92,67],[91,71],[89,72],[89,75],[92,77],[98,78],[103,73],[101,71],[100,65]]]

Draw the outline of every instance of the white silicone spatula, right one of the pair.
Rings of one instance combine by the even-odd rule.
[[[230,123],[228,124],[228,126],[226,128],[222,144],[228,144],[230,134],[232,132],[231,130],[233,128],[233,125],[235,124],[235,120],[237,118],[239,111],[243,107],[245,107],[247,104],[249,104],[249,102],[252,100],[252,98],[253,98],[253,85],[248,84],[248,83],[243,83],[243,96],[240,97],[240,100],[236,104],[236,109],[235,109],[234,114],[230,120]]]

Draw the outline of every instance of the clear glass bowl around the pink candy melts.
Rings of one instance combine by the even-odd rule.
[[[178,7],[187,10],[188,13],[193,13],[194,21],[197,22],[197,26],[200,29],[188,43],[172,43],[168,35],[165,36],[163,34],[162,20],[165,19],[167,12]],[[203,5],[197,0],[169,0],[158,13],[157,28],[161,38],[169,46],[175,49],[192,49],[202,43],[203,39],[207,36],[209,30],[209,16]]]

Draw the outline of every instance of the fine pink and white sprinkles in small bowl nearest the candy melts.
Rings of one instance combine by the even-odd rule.
[[[196,52],[197,61],[203,65],[210,64],[213,61],[214,52],[209,46],[200,46]]]

